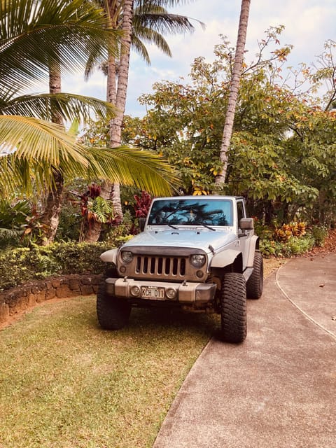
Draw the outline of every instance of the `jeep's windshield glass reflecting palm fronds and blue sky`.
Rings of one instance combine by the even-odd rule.
[[[232,225],[230,200],[156,200],[148,225]]]

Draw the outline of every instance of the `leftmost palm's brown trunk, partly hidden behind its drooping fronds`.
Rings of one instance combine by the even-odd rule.
[[[61,92],[61,69],[60,66],[53,67],[49,71],[49,91],[51,94]],[[57,111],[52,111],[52,123],[64,125],[62,116]],[[55,169],[52,189],[47,192],[45,209],[40,218],[43,224],[43,237],[39,239],[42,246],[47,246],[55,239],[59,225],[59,214],[62,207],[62,197],[64,191],[64,178],[59,169]]]

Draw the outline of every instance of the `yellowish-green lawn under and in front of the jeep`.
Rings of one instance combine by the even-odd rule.
[[[133,309],[107,332],[92,296],[36,307],[0,332],[0,447],[151,447],[216,325]]]

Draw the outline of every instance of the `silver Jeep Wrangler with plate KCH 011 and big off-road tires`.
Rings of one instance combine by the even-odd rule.
[[[246,295],[262,294],[262,255],[243,197],[153,200],[142,232],[102,253],[97,293],[102,328],[118,330],[132,307],[179,307],[221,314],[221,339],[246,338]]]

